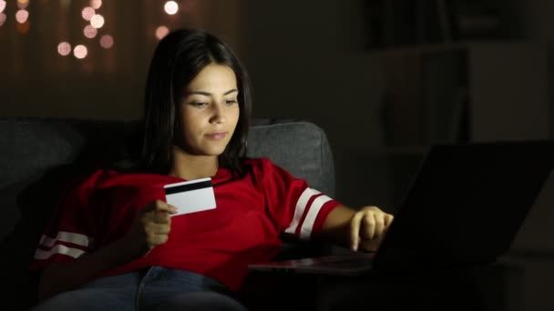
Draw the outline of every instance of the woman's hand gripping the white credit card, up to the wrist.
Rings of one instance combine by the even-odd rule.
[[[171,215],[177,208],[161,200],[150,202],[139,212],[125,236],[126,243],[133,247],[139,256],[149,252],[154,246],[168,241],[171,230]]]

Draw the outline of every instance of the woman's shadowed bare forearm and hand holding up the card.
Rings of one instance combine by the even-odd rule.
[[[75,261],[46,266],[38,283],[38,300],[80,286],[104,271],[144,256],[149,248],[165,243],[171,226],[169,214],[176,211],[163,201],[152,202],[139,213],[126,236]]]

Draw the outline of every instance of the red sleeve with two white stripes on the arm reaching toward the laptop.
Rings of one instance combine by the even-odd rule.
[[[261,174],[269,211],[284,234],[309,239],[321,231],[326,217],[340,205],[268,159],[262,159]]]

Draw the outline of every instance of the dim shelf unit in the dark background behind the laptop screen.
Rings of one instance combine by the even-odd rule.
[[[548,51],[524,41],[389,48],[381,123],[399,204],[429,145],[548,139]]]

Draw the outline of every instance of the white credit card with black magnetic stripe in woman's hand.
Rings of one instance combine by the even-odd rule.
[[[211,178],[200,178],[164,186],[166,202],[178,209],[173,216],[214,209],[215,194]]]

